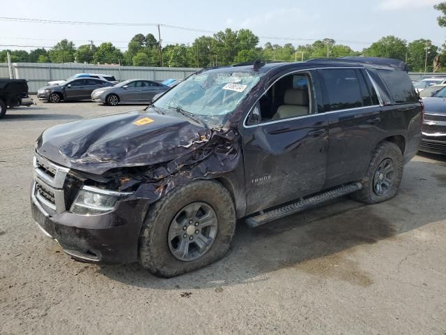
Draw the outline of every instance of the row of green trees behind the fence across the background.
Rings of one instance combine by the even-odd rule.
[[[446,2],[434,6],[443,13],[438,17],[440,27],[446,27]],[[153,34],[136,34],[121,51],[112,43],[75,47],[70,40],[61,40],[46,50],[38,47],[26,50],[11,50],[13,62],[36,63],[86,63],[121,64],[123,66],[169,66],[207,67],[238,64],[261,59],[263,61],[300,61],[319,57],[369,56],[388,57],[406,61],[415,72],[446,71],[446,44],[441,48],[431,40],[420,38],[408,42],[396,36],[385,36],[360,51],[348,45],[336,43],[331,38],[316,40],[312,44],[285,45],[270,42],[259,46],[259,37],[249,29],[234,31],[230,28],[213,36],[199,36],[192,44],[169,44],[160,48]],[[0,62],[6,62],[6,50],[0,51]]]

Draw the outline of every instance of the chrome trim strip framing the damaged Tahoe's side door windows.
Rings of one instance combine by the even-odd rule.
[[[331,114],[331,113],[340,113],[340,112],[348,112],[351,110],[364,110],[367,108],[372,108],[372,107],[383,107],[382,105],[382,100],[380,98],[380,94],[379,91],[376,89],[375,87],[375,82],[374,80],[370,77],[370,74],[367,72],[367,75],[369,75],[369,78],[371,80],[371,84],[374,85],[374,89],[376,91],[376,95],[378,96],[378,100],[380,101],[379,105],[371,105],[371,106],[362,106],[362,107],[354,107],[354,108],[346,108],[344,110],[330,110],[328,112],[322,112],[322,113],[314,113],[314,114],[308,114],[308,115],[300,115],[298,117],[289,117],[286,119],[279,119],[279,120],[275,120],[275,121],[266,121],[266,122],[261,122],[260,124],[247,124],[247,118],[249,117],[249,114],[251,113],[252,109],[254,108],[254,106],[259,102],[259,100],[266,94],[266,92],[272,87],[272,85],[274,85],[276,82],[278,82],[279,80],[281,80],[283,77],[286,77],[287,75],[293,75],[294,73],[299,73],[299,72],[308,72],[310,70],[325,70],[325,69],[346,69],[346,68],[353,68],[353,69],[364,69],[367,72],[367,69],[361,66],[354,66],[354,67],[350,67],[350,66],[339,66],[339,67],[330,67],[330,68],[305,68],[304,70],[295,70],[293,72],[290,73],[286,73],[285,75],[280,76],[279,78],[277,78],[277,80],[275,80],[272,84],[270,84],[270,86],[268,87],[268,89],[266,89],[263,94],[261,94],[261,96],[254,102],[254,104],[251,106],[251,108],[249,108],[249,112],[246,114],[245,119],[243,119],[243,128],[254,128],[257,126],[263,126],[263,125],[268,125],[268,124],[277,124],[279,122],[284,122],[284,121],[293,121],[293,120],[297,120],[297,119],[305,119],[307,117],[316,117],[318,115],[325,115],[325,114]]]

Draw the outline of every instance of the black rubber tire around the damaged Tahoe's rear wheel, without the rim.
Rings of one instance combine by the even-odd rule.
[[[374,175],[380,163],[385,159],[392,160],[394,166],[394,178],[392,186],[384,195],[378,195],[374,190]],[[380,142],[378,146],[372,151],[371,161],[367,172],[360,181],[362,189],[351,194],[351,198],[364,202],[365,204],[377,204],[393,198],[397,195],[401,178],[403,177],[403,154],[401,149],[392,142]]]

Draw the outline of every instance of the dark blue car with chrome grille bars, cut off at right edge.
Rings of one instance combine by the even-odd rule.
[[[446,155],[446,89],[436,96],[423,98],[424,121],[421,151]]]

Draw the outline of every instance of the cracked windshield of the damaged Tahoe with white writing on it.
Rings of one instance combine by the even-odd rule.
[[[154,107],[182,110],[208,126],[223,126],[229,114],[261,78],[255,72],[198,73],[160,96]]]

